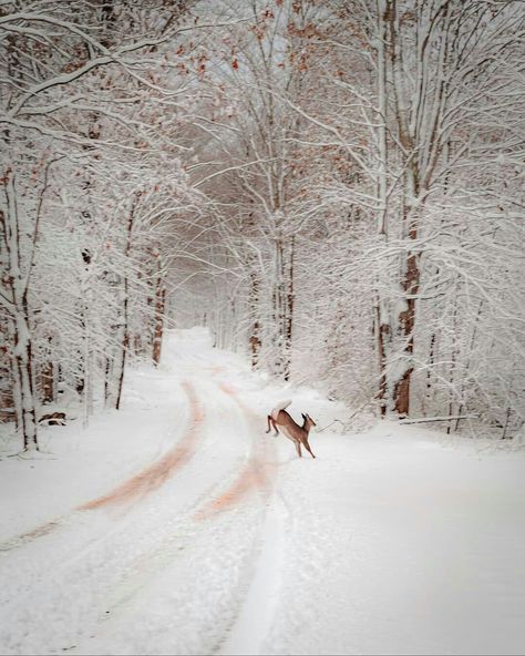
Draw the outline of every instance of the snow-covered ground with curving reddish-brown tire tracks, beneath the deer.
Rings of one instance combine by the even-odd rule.
[[[524,653],[523,451],[383,422],[298,459],[272,406],[344,409],[202,329],[128,381],[122,412],[0,460],[1,653]]]

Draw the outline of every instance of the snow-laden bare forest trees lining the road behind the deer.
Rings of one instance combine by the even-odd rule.
[[[522,435],[524,37],[512,0],[3,0],[22,448],[194,325],[378,418]]]

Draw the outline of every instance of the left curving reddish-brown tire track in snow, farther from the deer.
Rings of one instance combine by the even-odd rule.
[[[107,494],[76,506],[66,515],[55,517],[41,526],[37,526],[37,529],[33,529],[32,531],[21,533],[20,535],[0,543],[0,552],[11,551],[33,542],[39,537],[49,535],[56,529],[60,529],[68,517],[78,511],[97,510],[107,505],[125,504],[131,501],[136,501],[138,498],[143,498],[150,492],[157,490],[175,473],[176,470],[186,464],[197,450],[199,438],[198,431],[204,420],[204,410],[194,387],[187,381],[184,381],[181,387],[184,389],[188,398],[191,419],[186,432],[173,449],[161,459],[156,460],[153,464],[144,468],[138,474],[135,474],[127,481],[124,481],[124,483],[117,485]]]

